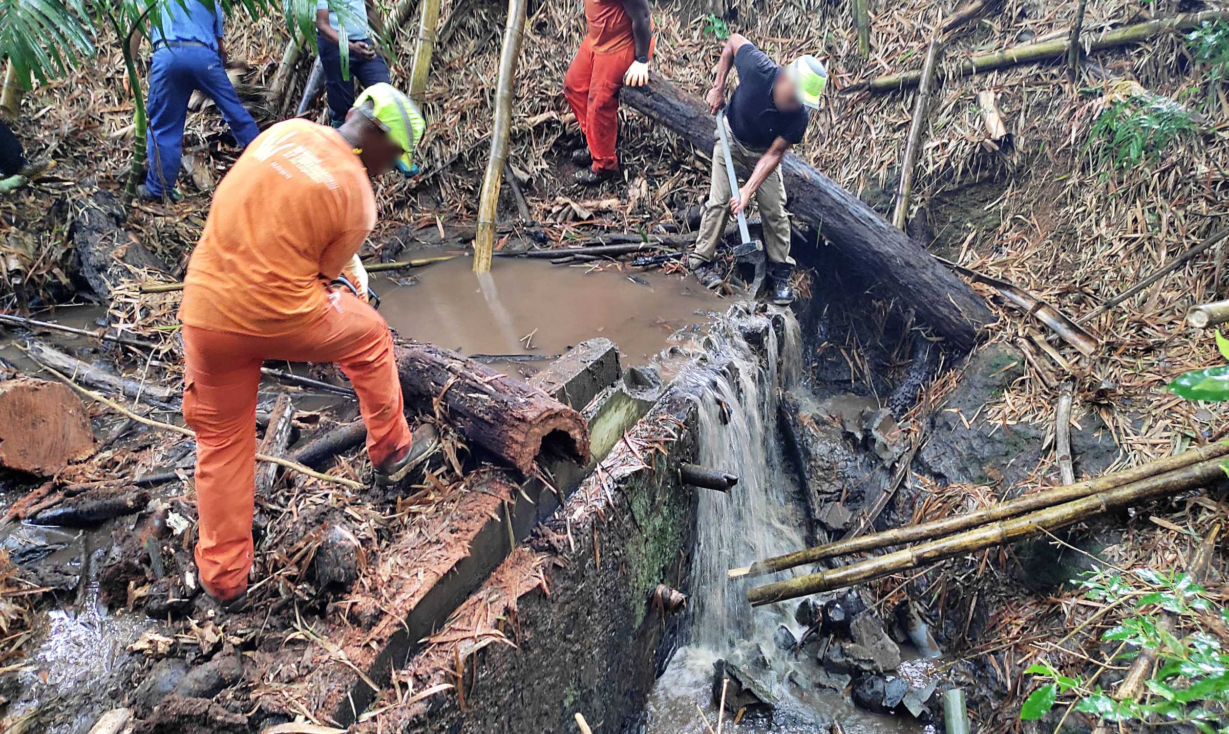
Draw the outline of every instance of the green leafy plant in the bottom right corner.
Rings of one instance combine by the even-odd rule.
[[[1117,573],[1091,571],[1083,574],[1080,584],[1089,599],[1112,605],[1134,603],[1132,614],[1101,638],[1122,643],[1127,652],[1117,659],[1132,659],[1142,649],[1156,653],[1159,665],[1147,681],[1148,696],[1142,701],[1118,701],[1100,686],[1089,689],[1080,676],[1063,675],[1042,662],[1025,670],[1042,685],[1025,700],[1020,718],[1040,719],[1059,696],[1072,693],[1075,711],[1106,723],[1126,723],[1127,730],[1164,723],[1187,724],[1203,734],[1229,734],[1229,654],[1208,632],[1211,625],[1229,621],[1229,609],[1213,610],[1206,589],[1187,573],[1137,568],[1133,574],[1134,579],[1127,579]],[[1195,631],[1182,638],[1168,632],[1158,625],[1161,610],[1177,615]]]

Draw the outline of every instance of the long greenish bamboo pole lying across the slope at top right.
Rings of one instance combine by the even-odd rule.
[[[1200,27],[1204,22],[1213,22],[1217,20],[1229,20],[1229,10],[1188,12],[1156,21],[1148,21],[1145,23],[1137,23],[1125,28],[1115,28],[1113,31],[1106,32],[1100,38],[1090,41],[1088,50],[1096,52],[1127,43],[1141,43],[1155,38],[1161,33],[1168,33],[1170,31],[1190,31],[1191,28]],[[961,64],[952,71],[955,76],[970,76],[973,74],[1014,66],[1016,64],[1053,61],[1063,58],[1069,47],[1069,37],[1054,38],[1041,43],[1026,43],[1002,52],[995,52],[993,54],[972,56],[961,61]],[[922,81],[922,71],[901,71],[873,79],[863,85],[852,85],[846,87],[844,91],[860,92],[863,90],[869,90],[871,92],[891,92],[916,87],[919,81]]]

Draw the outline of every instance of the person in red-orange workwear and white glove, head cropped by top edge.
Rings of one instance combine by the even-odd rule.
[[[586,141],[571,153],[571,161],[584,167],[576,182],[592,187],[618,171],[618,91],[649,81],[649,0],[585,0],[585,39],[563,77],[563,95]]]

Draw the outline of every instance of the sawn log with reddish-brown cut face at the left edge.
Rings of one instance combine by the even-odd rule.
[[[73,390],[32,377],[0,381],[0,466],[52,476],[92,453],[90,416]]]

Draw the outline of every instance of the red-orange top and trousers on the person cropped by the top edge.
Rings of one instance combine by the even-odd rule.
[[[592,169],[613,171],[618,168],[618,91],[635,60],[635,36],[622,0],[585,0],[585,39],[563,77],[563,96],[589,142]]]

